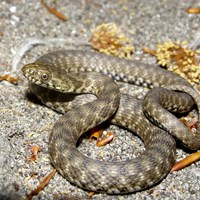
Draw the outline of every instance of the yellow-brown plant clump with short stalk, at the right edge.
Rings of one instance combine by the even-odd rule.
[[[185,43],[164,42],[157,45],[157,50],[143,48],[143,51],[155,56],[158,64],[173,71],[191,84],[200,82],[199,51],[185,47]],[[183,47],[184,46],[184,47]]]

